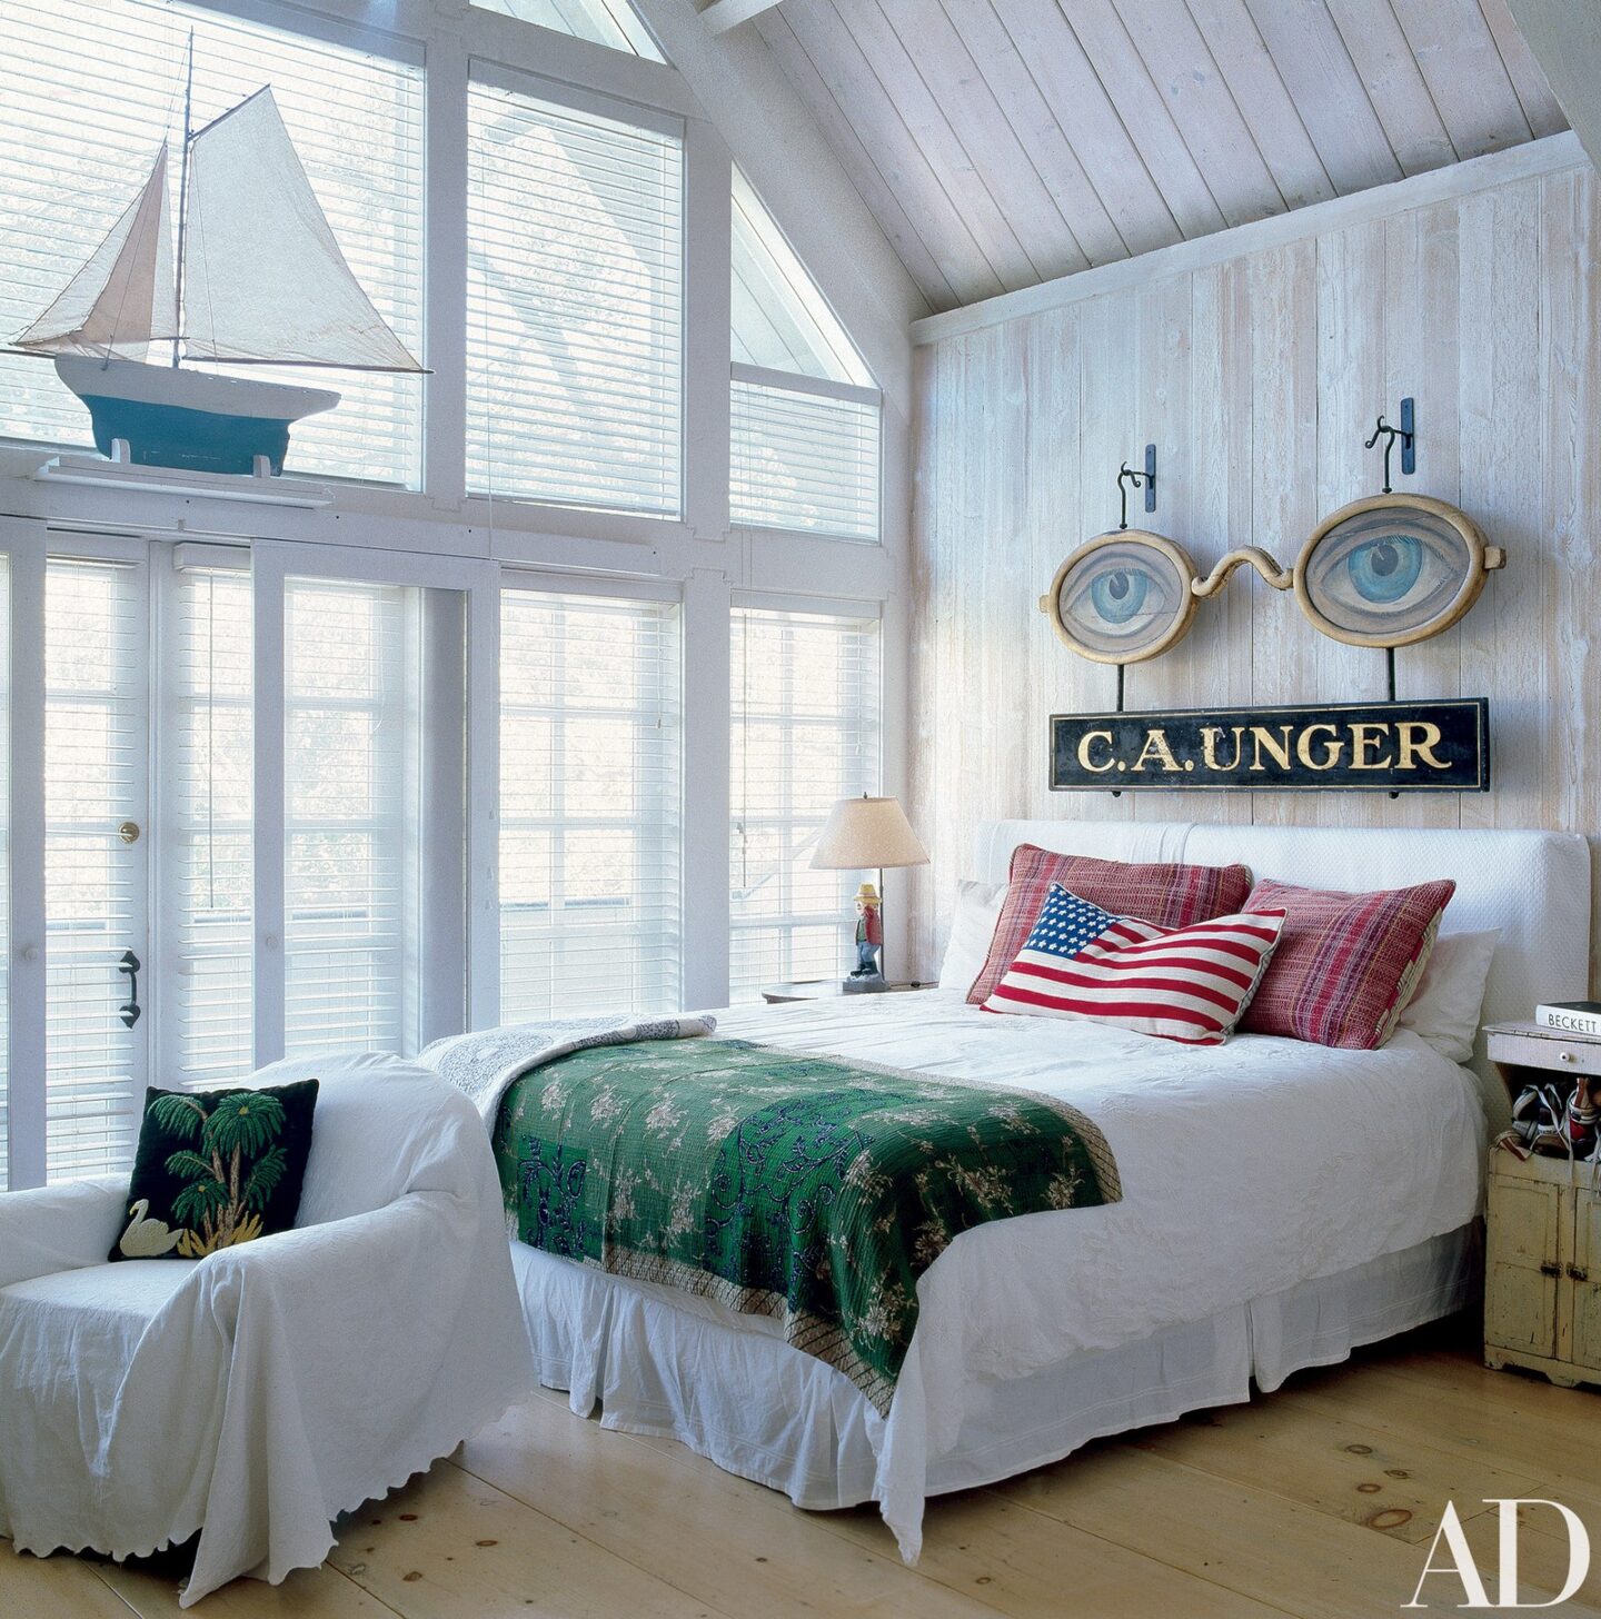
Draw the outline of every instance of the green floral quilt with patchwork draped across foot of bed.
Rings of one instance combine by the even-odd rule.
[[[1064,1103],[733,1039],[562,1057],[513,1081],[494,1148],[523,1242],[774,1316],[879,1412],[955,1237],[1122,1195]]]

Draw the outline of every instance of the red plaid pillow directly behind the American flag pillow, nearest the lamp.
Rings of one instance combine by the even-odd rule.
[[[1157,928],[1188,928],[1242,911],[1251,890],[1251,874],[1245,866],[1135,865],[1091,860],[1088,855],[1054,855],[1034,843],[1018,843],[1012,850],[1009,881],[1007,900],[989,939],[989,955],[968,991],[973,1005],[983,1005],[996,992],[996,984],[1017,960],[1052,882],[1114,916],[1138,916]]]

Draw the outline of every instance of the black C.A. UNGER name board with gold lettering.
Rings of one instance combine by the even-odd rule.
[[[1054,714],[1055,792],[1489,792],[1489,699]]]

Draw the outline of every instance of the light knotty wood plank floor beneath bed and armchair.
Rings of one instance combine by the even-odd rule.
[[[1598,1556],[1561,1613],[1601,1614],[1601,1394],[1486,1371],[1459,1334],[1370,1350],[1248,1407],[934,1501],[916,1569],[869,1509],[798,1512],[678,1444],[605,1433],[539,1396],[351,1514],[324,1567],[277,1588],[236,1580],[197,1613],[1373,1619],[1412,1598],[1447,1498],[1493,1582],[1494,1496],[1578,1512]],[[1567,1567],[1554,1514],[1522,1546],[1523,1600],[1552,1596]],[[1463,1595],[1436,1579],[1425,1598],[1447,1613]],[[176,1616],[175,1582],[0,1553],[3,1619],[130,1611]]]

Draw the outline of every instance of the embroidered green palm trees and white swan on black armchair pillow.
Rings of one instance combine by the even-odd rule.
[[[146,1219],[149,1205],[141,1198],[130,1209],[133,1222],[121,1251],[149,1258],[176,1245],[181,1258],[199,1260],[259,1237],[267,1200],[288,1167],[275,1145],[283,1133],[283,1103],[267,1091],[230,1091],[207,1112],[197,1096],[163,1094],[152,1098],[151,1120],[162,1135],[185,1143],[167,1159],[167,1174],[185,1182],[172,1200],[181,1226],[170,1234],[160,1221]],[[172,1242],[155,1247],[168,1235]]]

